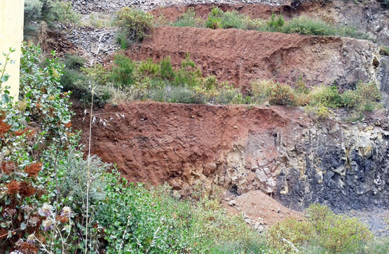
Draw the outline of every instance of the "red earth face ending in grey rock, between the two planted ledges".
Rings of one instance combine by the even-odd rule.
[[[310,86],[353,86],[374,79],[372,48],[367,41],[331,36],[157,27],[151,39],[125,53],[134,60],[170,56],[176,68],[190,53],[203,74],[241,87],[256,79],[293,84],[299,76]]]

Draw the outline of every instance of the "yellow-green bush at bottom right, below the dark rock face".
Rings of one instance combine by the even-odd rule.
[[[287,219],[271,227],[266,242],[278,253],[294,253],[293,246],[300,250],[315,247],[322,253],[359,253],[372,238],[357,218],[336,215],[327,206],[312,204],[303,221]]]

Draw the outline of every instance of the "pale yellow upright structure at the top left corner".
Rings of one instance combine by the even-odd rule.
[[[10,78],[3,85],[11,86],[10,95],[18,100],[19,72],[20,72],[20,48],[23,41],[23,18],[25,0],[0,0],[0,62],[4,64],[2,53],[8,53],[9,48],[15,48],[11,53],[14,64],[8,63],[6,73]]]

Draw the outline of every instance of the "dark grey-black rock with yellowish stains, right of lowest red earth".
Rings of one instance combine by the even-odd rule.
[[[379,121],[303,130],[301,143],[286,151],[277,176],[279,199],[293,208],[313,202],[334,208],[388,207],[388,140],[388,125]]]

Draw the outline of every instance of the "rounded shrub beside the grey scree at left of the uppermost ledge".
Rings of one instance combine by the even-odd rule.
[[[153,15],[123,7],[116,15],[116,25],[121,27],[121,32],[132,41],[142,41],[149,36],[153,29]]]

